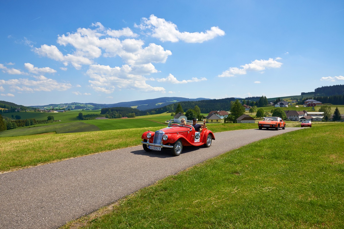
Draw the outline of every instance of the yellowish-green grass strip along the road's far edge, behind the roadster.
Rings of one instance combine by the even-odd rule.
[[[157,124],[157,123],[154,123]],[[90,131],[69,134],[30,135],[0,138],[0,172],[21,169],[67,158],[140,145],[141,135],[148,129],[165,127]],[[214,133],[257,128],[257,124],[212,124]]]

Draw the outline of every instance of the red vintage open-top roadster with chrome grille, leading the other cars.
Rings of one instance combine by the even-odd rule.
[[[184,122],[186,121],[186,122]],[[207,128],[196,131],[192,121],[171,119],[168,127],[153,131],[146,131],[142,134],[142,146],[145,151],[171,149],[174,156],[182,153],[183,146],[204,146],[210,147],[215,136]]]

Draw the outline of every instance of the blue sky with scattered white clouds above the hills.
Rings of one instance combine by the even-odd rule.
[[[344,84],[344,1],[1,1],[0,100],[300,95]]]

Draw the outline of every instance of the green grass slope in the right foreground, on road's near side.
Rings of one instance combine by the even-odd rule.
[[[76,225],[343,228],[343,149],[342,123],[260,140],[142,188],[110,214]]]

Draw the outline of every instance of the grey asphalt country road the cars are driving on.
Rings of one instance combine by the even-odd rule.
[[[301,128],[215,133],[210,148],[113,150],[0,174],[0,228],[58,228],[197,163],[251,142]]]

